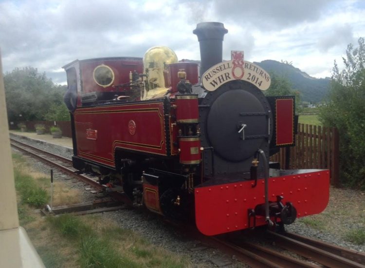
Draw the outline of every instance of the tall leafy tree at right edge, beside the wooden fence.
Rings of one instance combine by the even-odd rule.
[[[347,45],[345,68],[336,61],[332,69],[329,100],[320,111],[321,122],[338,129],[340,177],[345,185],[365,189],[365,45],[359,38],[354,49]]]

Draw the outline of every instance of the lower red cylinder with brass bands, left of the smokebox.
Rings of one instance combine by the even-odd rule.
[[[199,137],[179,138],[180,163],[184,165],[198,165],[201,162]]]

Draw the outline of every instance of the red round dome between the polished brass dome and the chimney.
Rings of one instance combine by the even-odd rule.
[[[198,83],[198,63],[194,62],[178,62],[168,65],[168,75],[169,75],[169,86],[172,87],[171,92],[177,92],[178,89],[176,85],[180,82],[178,77],[179,70],[183,69],[186,73],[186,80],[194,85]]]

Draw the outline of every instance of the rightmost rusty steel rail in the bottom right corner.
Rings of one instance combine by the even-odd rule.
[[[350,259],[354,262],[365,265],[365,253],[364,252],[356,251],[353,249],[346,249],[346,248],[343,248],[340,246],[332,245],[330,243],[327,243],[327,242],[324,242],[324,241],[321,241],[321,240],[318,240],[315,238],[303,236],[303,235],[293,233],[293,232],[286,232],[285,235],[292,239],[306,243],[310,246],[326,250],[326,251],[336,254],[338,256],[341,256],[341,257]]]

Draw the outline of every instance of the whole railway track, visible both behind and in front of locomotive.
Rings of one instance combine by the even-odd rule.
[[[105,186],[100,185],[96,181],[96,177],[78,174],[77,171],[72,167],[71,159],[40,150],[36,147],[18,142],[14,139],[11,139],[11,145],[14,148],[17,148],[19,151],[29,154],[32,157],[37,157],[38,159],[59,168],[63,172],[67,172],[69,175],[74,176],[77,179],[81,179],[82,181],[97,189],[105,190]],[[118,200],[125,199],[123,194],[118,192],[111,192],[110,194],[114,198],[117,197],[116,199]],[[268,247],[260,246],[257,243],[244,242],[242,239],[229,240],[225,239],[224,236],[223,238],[220,236],[207,237],[200,233],[198,234],[196,229],[195,234],[196,237],[199,237],[199,240],[202,243],[208,245],[209,247],[217,248],[231,256],[235,256],[238,261],[241,261],[254,268],[365,268],[365,253],[363,252],[331,245],[329,243],[301,236],[292,232],[278,234],[267,231],[264,233],[264,236],[261,236],[261,238],[265,241],[269,240],[269,243],[274,243],[276,247],[295,253],[298,256],[302,256],[300,258],[292,257],[275,249],[269,249]],[[257,237],[257,233],[253,235]]]

